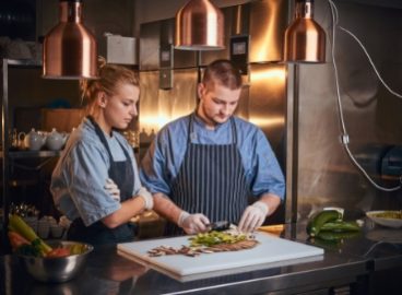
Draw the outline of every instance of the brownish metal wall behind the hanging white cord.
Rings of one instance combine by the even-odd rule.
[[[373,4],[373,1],[371,1]],[[356,34],[367,47],[387,83],[402,92],[402,9],[336,1],[340,25]],[[331,26],[327,1],[316,1],[316,20]],[[328,34],[328,38],[330,35]],[[360,217],[365,211],[401,209],[401,190],[383,192],[352,165],[340,144],[340,120],[330,43],[327,63],[296,68],[298,87],[298,217],[323,206],[343,206]],[[376,78],[356,42],[336,31],[335,58],[340,73],[341,102],[350,148],[374,179],[387,187],[398,177],[379,177],[380,151],[402,144],[402,99],[391,95]]]

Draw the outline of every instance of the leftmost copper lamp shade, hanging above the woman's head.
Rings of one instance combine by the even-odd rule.
[[[45,36],[43,78],[96,79],[95,37],[82,23],[82,0],[60,0],[60,22]]]

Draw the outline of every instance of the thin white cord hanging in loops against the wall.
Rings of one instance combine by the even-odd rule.
[[[399,182],[400,185],[395,186],[395,187],[391,187],[391,188],[387,188],[383,187],[381,185],[378,185],[369,175],[368,173],[362,167],[362,165],[356,161],[356,158],[354,157],[353,153],[351,152],[351,150],[348,149],[348,143],[350,143],[350,138],[347,134],[347,130],[345,127],[345,120],[343,117],[343,108],[342,108],[342,101],[341,101],[341,92],[340,92],[340,83],[339,83],[339,73],[338,73],[338,66],[336,66],[336,61],[335,61],[335,32],[336,32],[336,27],[340,28],[341,31],[347,33],[348,35],[351,35],[356,42],[357,44],[360,46],[360,48],[363,49],[363,51],[365,52],[365,55],[368,58],[369,63],[371,64],[374,71],[376,72],[376,75],[378,76],[378,79],[380,80],[380,82],[382,83],[382,85],[394,96],[402,98],[402,95],[394,92],[381,78],[379,71],[377,70],[375,63],[373,62],[371,57],[369,56],[367,49],[365,48],[365,46],[363,45],[363,43],[356,37],[356,35],[354,35],[351,31],[340,26],[338,24],[339,22],[339,12],[338,12],[338,8],[335,5],[335,3],[332,0],[328,0],[330,8],[331,8],[331,15],[332,15],[332,45],[331,45],[331,58],[332,58],[332,64],[333,64],[333,69],[334,69],[334,76],[335,76],[335,86],[336,86],[336,98],[338,98],[338,108],[339,108],[339,116],[340,116],[340,122],[341,122],[341,127],[342,127],[342,134],[341,134],[341,143],[343,145],[343,148],[345,149],[350,160],[352,161],[352,163],[362,172],[362,174],[367,178],[367,180],[377,189],[382,190],[382,191],[395,191],[402,188],[402,175],[399,177]]]

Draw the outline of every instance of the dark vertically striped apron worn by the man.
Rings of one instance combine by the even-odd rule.
[[[230,118],[232,143],[198,144],[191,142],[193,118],[190,116],[187,151],[172,186],[170,199],[189,213],[203,213],[211,222],[237,224],[248,205],[249,189],[237,149],[236,125]],[[168,223],[166,235],[184,231]]]

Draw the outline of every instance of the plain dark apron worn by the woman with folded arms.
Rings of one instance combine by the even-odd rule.
[[[109,177],[116,182],[120,189],[120,202],[123,202],[132,197],[134,170],[128,151],[119,142],[126,161],[115,162],[100,127],[95,120],[88,116],[87,119],[95,127],[95,132],[100,142],[107,150],[110,158],[110,167],[108,170]],[[106,184],[106,179],[105,179]],[[110,197],[111,198],[111,197]],[[134,238],[134,226],[131,223],[122,224],[116,228],[106,227],[100,221],[95,222],[90,226],[85,226],[82,219],[76,219],[71,224],[68,232],[68,239],[90,243],[92,245],[118,244],[131,241]]]

